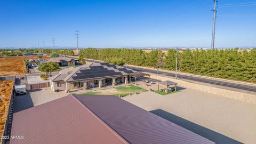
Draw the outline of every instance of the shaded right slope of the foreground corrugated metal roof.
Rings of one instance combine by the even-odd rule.
[[[214,143],[111,95],[75,95],[130,143]]]

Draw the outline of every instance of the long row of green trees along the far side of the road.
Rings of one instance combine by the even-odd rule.
[[[139,49],[84,49],[79,56],[123,65],[145,66],[175,70],[176,50],[167,53]],[[256,83],[256,49],[185,50],[178,52],[181,72]]]

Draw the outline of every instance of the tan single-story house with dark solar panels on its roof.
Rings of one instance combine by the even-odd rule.
[[[103,87],[119,83],[128,83],[136,71],[110,63],[94,63],[80,67],[70,67],[50,77],[51,90],[72,90],[82,88]],[[141,73],[142,74],[142,73]]]

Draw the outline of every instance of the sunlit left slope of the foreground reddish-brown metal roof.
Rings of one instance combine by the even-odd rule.
[[[21,138],[12,144],[127,143],[71,95],[15,113],[11,135]]]

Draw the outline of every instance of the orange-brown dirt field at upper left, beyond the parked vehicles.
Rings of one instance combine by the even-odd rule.
[[[0,58],[0,76],[24,75],[26,67],[23,60],[37,57]]]

